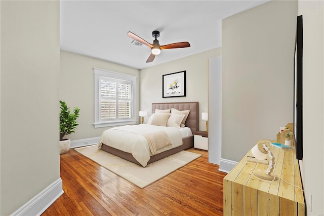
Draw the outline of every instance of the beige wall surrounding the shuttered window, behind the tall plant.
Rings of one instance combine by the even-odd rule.
[[[60,51],[60,100],[64,100],[71,109],[80,109],[79,124],[75,133],[64,136],[71,140],[98,137],[108,127],[94,128],[94,67],[136,76],[137,101],[139,111],[139,70],[119,64]],[[58,103],[59,101],[57,101]],[[59,104],[59,103],[58,103]],[[136,112],[138,114],[138,112]],[[138,118],[139,119],[139,118]]]

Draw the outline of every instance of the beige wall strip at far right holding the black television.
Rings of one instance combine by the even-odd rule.
[[[303,160],[307,215],[324,214],[324,3],[298,1],[303,15]]]

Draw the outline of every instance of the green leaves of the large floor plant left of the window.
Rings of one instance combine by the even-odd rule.
[[[60,100],[60,140],[67,134],[74,133],[78,125],[76,119],[79,117],[78,107],[74,107],[73,113],[67,107],[66,102]]]

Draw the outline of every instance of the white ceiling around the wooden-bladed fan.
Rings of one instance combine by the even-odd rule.
[[[60,1],[60,49],[142,69],[221,47],[221,20],[261,1]],[[187,41],[191,47],[162,50],[146,63],[150,48],[131,46],[131,31],[160,45]]]

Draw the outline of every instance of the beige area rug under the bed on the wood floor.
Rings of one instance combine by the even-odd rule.
[[[152,184],[201,156],[193,152],[182,151],[142,167],[98,149],[98,145],[77,148],[75,151],[125,178],[139,188]]]

